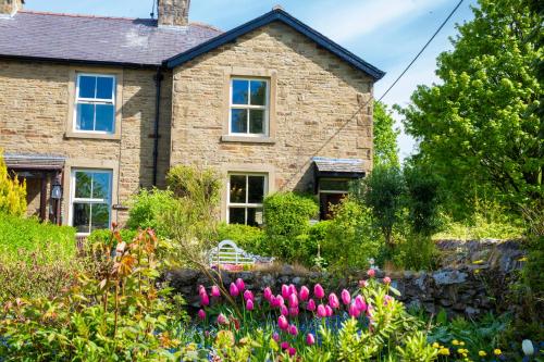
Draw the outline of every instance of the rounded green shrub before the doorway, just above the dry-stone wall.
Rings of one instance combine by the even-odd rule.
[[[371,211],[349,198],[332,210],[334,219],[327,225],[322,257],[337,272],[367,269],[369,259],[375,259],[383,246],[379,230],[372,226]]]

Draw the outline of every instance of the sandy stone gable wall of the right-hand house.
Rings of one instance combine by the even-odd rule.
[[[235,76],[270,80],[270,137],[225,137]],[[312,157],[372,166],[372,78],[284,24],[178,66],[173,88],[172,164],[269,173],[269,191],[308,191]]]

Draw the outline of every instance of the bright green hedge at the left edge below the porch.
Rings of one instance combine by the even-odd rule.
[[[54,297],[81,270],[75,229],[0,214],[0,304]]]

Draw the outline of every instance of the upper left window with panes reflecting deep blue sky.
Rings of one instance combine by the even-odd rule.
[[[75,99],[76,132],[112,134],[115,129],[115,76],[78,74]]]

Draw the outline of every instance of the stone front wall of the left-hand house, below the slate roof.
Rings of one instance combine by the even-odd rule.
[[[74,96],[71,74],[74,70],[122,74],[119,137],[86,138],[67,134],[66,123],[71,113],[71,98]],[[140,186],[151,186],[154,74],[152,70],[0,61],[0,147],[10,153],[54,154],[66,158],[62,208],[64,224],[69,222],[71,167],[112,170],[113,204],[124,204]],[[159,185],[164,184],[170,160],[171,89],[172,76],[166,74],[160,121]],[[30,212],[35,209],[33,204]],[[126,216],[123,211],[112,212],[113,221],[123,222]]]

